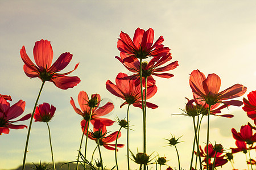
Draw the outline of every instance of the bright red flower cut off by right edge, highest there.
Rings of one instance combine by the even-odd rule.
[[[247,116],[256,122],[256,91],[251,91],[248,95],[248,100],[243,98],[243,111],[247,112]]]

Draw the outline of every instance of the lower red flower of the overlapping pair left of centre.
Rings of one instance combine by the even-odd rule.
[[[85,121],[81,122],[81,126],[82,126],[82,131],[84,131]],[[115,150],[115,144],[111,144],[111,142],[114,142],[115,139],[117,139],[118,131],[115,131],[114,133],[107,136],[106,134],[108,133],[108,131],[106,130],[106,126],[102,124],[101,120],[97,120],[94,122],[93,132],[95,133],[96,131],[102,133],[102,137],[100,138],[100,146],[104,146],[108,150]],[[87,129],[85,129],[85,133],[84,133],[85,135],[86,135],[86,132],[87,132]],[[121,137],[121,132],[118,135],[118,139],[120,137]],[[88,133],[88,138],[96,141],[97,143],[97,138],[93,137],[92,132]],[[125,145],[117,144],[117,147],[123,147],[123,146]]]

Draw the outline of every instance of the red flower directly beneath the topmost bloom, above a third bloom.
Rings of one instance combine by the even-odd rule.
[[[126,67],[126,69],[135,73],[133,75],[128,76],[127,78],[138,78],[140,73],[139,60],[136,58],[133,62],[124,62],[123,60],[127,58],[127,56],[129,56],[129,54],[121,52],[120,53],[121,58],[117,56],[115,58],[117,58],[123,64],[123,66]],[[165,63],[167,63],[168,61],[170,61],[171,59],[172,59],[172,56],[171,56],[171,53],[169,53],[167,56],[154,57],[149,62],[142,62],[143,81],[145,81],[144,78],[147,77],[149,83],[154,82],[154,78],[152,77],[152,75],[159,76],[162,78],[171,78],[172,76],[174,76],[171,73],[162,73],[162,72],[174,70],[177,66],[179,66],[178,61],[174,61],[169,63],[166,66],[160,67]]]

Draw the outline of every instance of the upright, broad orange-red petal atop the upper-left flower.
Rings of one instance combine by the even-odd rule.
[[[48,69],[49,67],[51,67],[53,50],[50,41],[36,41],[33,53],[36,65],[38,65],[40,69]]]

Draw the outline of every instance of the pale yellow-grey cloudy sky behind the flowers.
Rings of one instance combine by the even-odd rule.
[[[47,102],[56,107],[55,116],[49,122],[55,162],[76,160],[81,140],[81,116],[69,104],[73,97],[76,105],[80,91],[100,94],[102,103],[111,101],[115,108],[105,116],[114,120],[126,117],[127,106],[119,106],[122,99],[105,88],[107,80],[114,82],[118,73],[130,74],[115,59],[119,55],[117,41],[121,31],[133,37],[135,29],[155,31],[154,40],[163,36],[165,46],[171,49],[172,61],[179,66],[168,73],[173,78],[155,78],[158,92],[150,100],[159,108],[147,110],[148,154],[166,156],[168,165],[177,167],[174,147],[167,147],[164,138],[171,134],[181,137],[177,145],[181,167],[189,168],[192,153],[192,118],[182,113],[186,100],[192,98],[189,74],[196,69],[205,75],[215,73],[221,78],[221,90],[240,83],[247,87],[246,97],[256,90],[256,2],[254,1],[0,1],[0,94],[11,95],[11,105],[20,99],[26,101],[23,114],[32,112],[41,86],[38,78],[28,78],[23,71],[19,50],[24,45],[34,61],[32,50],[36,41],[51,41],[53,61],[61,53],[73,54],[72,61],[61,71],[65,73],[79,63],[71,75],[81,82],[74,88],[60,90],[46,82],[39,103]],[[238,100],[242,100],[239,97]],[[234,114],[233,118],[210,117],[210,141],[225,148],[235,147],[231,129],[240,130],[247,122],[253,123],[242,107],[229,107],[222,113]],[[174,115],[175,114],[175,115]],[[130,150],[143,151],[142,113],[130,108]],[[29,121],[20,122],[28,126]],[[116,131],[115,123],[108,131]],[[200,145],[206,142],[206,120],[203,120]],[[126,144],[126,130],[122,130],[118,143]],[[22,164],[27,129],[10,130],[2,134],[0,141],[0,169],[13,169]],[[88,153],[92,154],[96,143],[88,141]],[[114,152],[102,148],[107,168],[112,168]],[[255,152],[251,152],[253,158]],[[97,156],[96,156],[97,157]],[[96,157],[94,157],[96,159]],[[156,157],[157,158],[157,157]],[[27,163],[51,162],[47,126],[33,122],[28,146]],[[118,164],[126,168],[126,147],[118,152]],[[234,155],[237,169],[246,168],[245,156]],[[231,169],[230,163],[224,165]],[[131,162],[131,168],[138,165]]]

